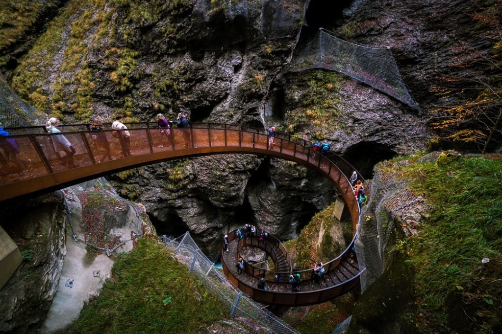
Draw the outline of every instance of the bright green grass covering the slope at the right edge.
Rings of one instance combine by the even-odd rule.
[[[502,316],[496,308],[502,304],[500,158],[459,157],[443,164],[382,167],[409,179],[413,190],[425,194],[428,203],[436,208],[418,235],[397,247],[409,256],[408,263],[416,271],[417,304],[425,310],[419,323],[423,331],[440,328],[448,321],[449,326],[459,329],[457,321],[452,320],[458,318],[452,311],[455,303],[448,304],[447,297],[469,305],[459,310],[467,312],[479,325],[469,321],[469,331],[495,328]],[[481,263],[484,257],[490,262]],[[408,314],[408,319],[417,316]]]

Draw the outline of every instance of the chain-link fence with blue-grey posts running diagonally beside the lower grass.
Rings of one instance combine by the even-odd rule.
[[[181,240],[177,241],[178,239]],[[223,272],[215,268],[214,263],[202,253],[190,233],[186,232],[175,240],[163,236],[163,241],[176,253],[178,260],[185,263],[190,272],[228,306],[231,316],[254,318],[274,333],[298,333],[270,311],[264,309],[264,305],[239,291]]]

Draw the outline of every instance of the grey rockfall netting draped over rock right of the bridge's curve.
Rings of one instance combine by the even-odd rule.
[[[438,156],[437,152],[433,152],[417,163],[435,162]],[[394,164],[407,165],[408,161]],[[407,236],[416,234],[420,212],[429,208],[426,200],[410,190],[405,180],[378,169],[366,193],[369,193],[369,200],[362,208],[355,240],[362,291],[383,274],[388,241],[395,233],[395,228],[402,229]],[[397,221],[400,226],[396,226]],[[366,270],[362,271],[364,268]]]

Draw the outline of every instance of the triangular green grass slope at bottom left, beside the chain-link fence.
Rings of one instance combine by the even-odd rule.
[[[155,237],[124,253],[98,296],[92,297],[71,333],[196,333],[225,318],[228,309]]]

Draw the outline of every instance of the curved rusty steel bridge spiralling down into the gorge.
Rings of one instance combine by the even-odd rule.
[[[326,176],[339,191],[350,212],[353,239],[337,258],[324,264],[325,274],[319,283],[310,283],[312,269],[298,271],[304,284],[300,292],[290,292],[291,261],[282,243],[270,235],[266,242],[258,238],[235,239],[235,231],[228,234],[229,252],[222,251],[225,275],[243,292],[267,304],[308,305],[339,296],[359,282],[359,269],[352,251],[359,222],[359,207],[347,179],[355,170],[336,155],[330,160],[311,149],[311,143],[297,137],[276,134],[273,147],[264,129],[230,124],[193,123],[191,128],[171,128],[168,136],[161,137],[157,123],[126,123],[131,137],[130,153],[125,150],[120,132],[103,130],[110,144],[113,160],[98,162],[104,149],[89,131],[88,124],[60,126],[62,134],[45,133],[45,127],[10,128],[13,136],[0,137],[0,147],[15,139],[20,154],[0,156],[0,201],[22,196],[34,196],[61,189],[105,174],[115,173],[143,165],[189,156],[222,153],[246,153],[274,156],[291,160],[314,169]],[[114,134],[115,133],[115,134]],[[61,156],[54,150],[55,136],[64,135],[75,148],[75,167],[61,164]],[[4,153],[5,149],[4,149]],[[10,160],[10,161],[8,161]],[[257,270],[245,263],[244,274],[237,274],[235,263],[242,247],[253,246],[267,251],[278,271]],[[286,269],[286,270],[284,270]],[[296,272],[295,272],[296,273]],[[275,275],[282,282],[275,282]],[[268,290],[258,289],[259,277],[267,279]]]

